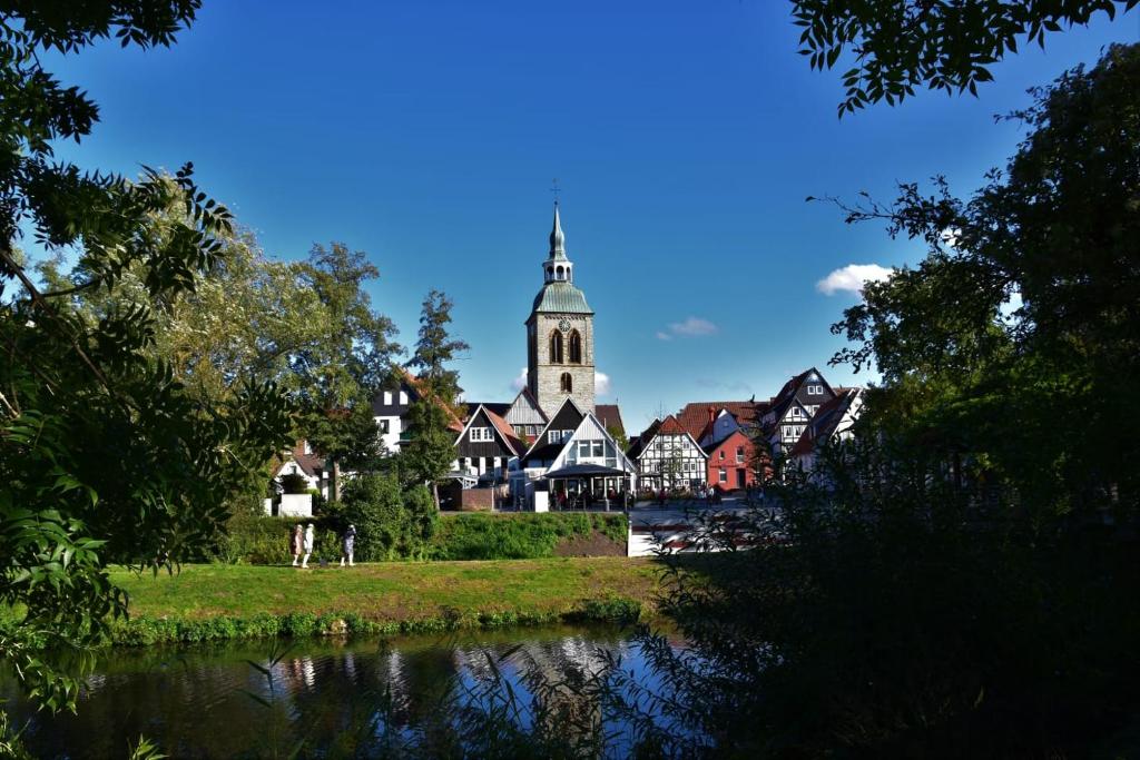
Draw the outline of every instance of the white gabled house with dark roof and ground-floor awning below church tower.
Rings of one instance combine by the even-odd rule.
[[[519,508],[606,504],[616,506],[635,492],[637,467],[592,411],[568,398],[511,474]]]

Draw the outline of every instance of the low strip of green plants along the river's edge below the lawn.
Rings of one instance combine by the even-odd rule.
[[[112,630],[116,646],[153,644],[195,644],[231,639],[311,636],[396,636],[464,629],[543,626],[557,622],[634,623],[642,605],[620,597],[588,600],[563,612],[459,612],[441,610],[438,616],[404,621],[375,621],[353,612],[327,612],[320,615],[293,612],[285,615],[259,613],[252,618],[218,616],[205,620],[132,618]]]

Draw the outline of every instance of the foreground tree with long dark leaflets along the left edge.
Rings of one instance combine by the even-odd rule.
[[[149,353],[149,304],[193,292],[231,231],[192,166],[173,182],[145,170],[131,183],[52,158],[52,141],[89,134],[98,108],[44,71],[38,50],[74,54],[112,32],[124,46],[169,46],[198,5],[17,3],[0,19],[0,604],[22,611],[0,632],[0,656],[51,709],[74,705],[92,647],[127,612],[106,564],[194,557],[290,428],[272,384],[246,381],[209,403]],[[185,219],[156,226],[172,204]],[[25,228],[48,252],[78,252],[83,279],[38,287],[16,251]],[[131,268],[142,303],[97,319],[75,307],[80,293],[120,292]]]

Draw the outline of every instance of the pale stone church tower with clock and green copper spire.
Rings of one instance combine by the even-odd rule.
[[[583,411],[594,411],[594,311],[573,284],[557,201],[543,289],[527,319],[527,384],[547,417],[567,398]]]

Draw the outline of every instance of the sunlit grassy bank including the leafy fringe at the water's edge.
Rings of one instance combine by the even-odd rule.
[[[651,608],[658,585],[651,559],[626,557],[188,565],[112,577],[130,595],[131,620],[114,636],[123,645],[629,620]]]

